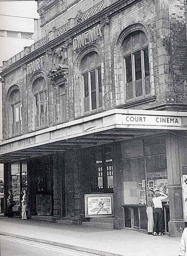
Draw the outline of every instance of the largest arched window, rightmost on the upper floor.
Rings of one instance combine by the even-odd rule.
[[[122,45],[126,100],[136,100],[151,92],[148,41],[143,31],[126,37]]]

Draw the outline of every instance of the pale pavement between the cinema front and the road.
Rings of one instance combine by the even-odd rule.
[[[7,217],[0,217],[0,234],[106,256],[177,256],[180,244],[180,237],[154,237],[136,230],[69,226]]]

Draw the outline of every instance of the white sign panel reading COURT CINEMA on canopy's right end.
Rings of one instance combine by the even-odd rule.
[[[123,124],[181,126],[182,120],[181,117],[175,116],[123,115]]]

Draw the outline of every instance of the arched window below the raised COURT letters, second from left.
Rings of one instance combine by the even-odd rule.
[[[47,126],[47,92],[43,77],[38,77],[33,84],[35,128]]]

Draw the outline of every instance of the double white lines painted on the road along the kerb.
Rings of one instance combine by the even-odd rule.
[[[33,246],[33,247],[38,247],[38,248],[41,248],[41,249],[46,249],[46,250],[50,250],[50,251],[53,251],[53,252],[63,252],[65,254],[71,254],[71,255],[74,255],[74,256],[92,256],[92,255],[96,255],[96,254],[93,254],[93,253],[89,253],[87,252],[85,254],[85,252],[79,252],[79,251],[75,251],[73,249],[68,249],[68,248],[62,248],[62,247],[59,247],[59,249],[57,248],[51,248],[53,246],[55,247],[58,247],[57,245],[44,245],[44,244],[40,244],[39,242],[33,242],[33,241],[30,241],[28,242],[27,240],[24,240],[24,239],[21,239],[21,238],[13,238],[13,237],[5,237],[5,236],[0,236],[1,239],[4,239],[4,240],[9,240],[9,241],[12,241],[12,242],[16,242],[16,243],[19,243],[19,244],[26,244],[26,245],[30,245],[30,246]],[[21,241],[20,241],[21,240]]]

